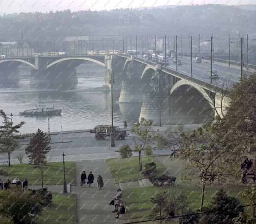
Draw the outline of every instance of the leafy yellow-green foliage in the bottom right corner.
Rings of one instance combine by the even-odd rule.
[[[252,210],[251,212],[241,212],[238,217],[233,219],[233,222],[235,224],[253,224],[256,222],[256,187],[254,184],[252,184],[251,189],[245,189],[242,191],[242,197],[247,199],[251,206]]]

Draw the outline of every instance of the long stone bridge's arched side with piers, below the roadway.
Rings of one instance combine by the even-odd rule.
[[[20,64],[31,67],[31,83],[77,83],[75,68],[84,61],[105,67],[104,85],[113,72],[119,103],[142,103],[140,117],[155,124],[201,123],[221,114],[223,90],[187,74],[126,54],[66,55],[0,59],[0,79],[12,80]],[[160,118],[161,117],[161,118]]]

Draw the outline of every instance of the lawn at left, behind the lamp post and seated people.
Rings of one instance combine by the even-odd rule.
[[[7,172],[7,177],[12,181],[15,177],[23,181],[24,178],[27,178],[28,184],[40,185],[41,184],[41,175],[34,168],[33,165],[22,163],[22,164],[13,164],[0,165],[0,169]],[[44,170],[43,178],[44,184],[62,184],[64,179],[63,174],[63,162],[51,162],[47,163]],[[66,171],[66,181],[67,183],[76,183],[75,178],[75,163],[65,162],[65,171]],[[7,177],[1,176],[2,179],[7,179]]]

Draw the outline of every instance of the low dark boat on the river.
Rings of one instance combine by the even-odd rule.
[[[38,115],[38,116],[48,116],[49,115],[59,115],[62,109],[55,109],[53,107],[45,107],[38,105],[35,109],[25,110],[24,112],[20,112],[21,115]]]

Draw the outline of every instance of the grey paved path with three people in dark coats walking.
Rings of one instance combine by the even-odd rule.
[[[113,206],[108,205],[110,199],[117,193],[118,185],[114,184],[112,174],[108,170],[106,160],[76,161],[77,186],[72,186],[72,193],[77,194],[77,219],[78,223],[125,223],[128,220],[124,215],[115,219],[116,213],[112,213]],[[91,188],[79,186],[82,171],[86,175],[90,171],[94,174],[94,183]],[[102,190],[97,190],[97,176],[101,174],[104,181]]]

